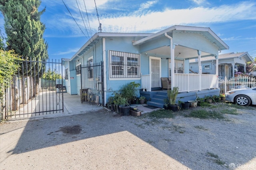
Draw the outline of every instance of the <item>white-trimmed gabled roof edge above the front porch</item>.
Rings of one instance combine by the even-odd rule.
[[[218,46],[219,50],[229,49],[228,45],[226,43],[224,43],[210,28],[192,27],[192,26],[172,26],[172,27],[162,30],[156,34],[153,34],[151,36],[148,36],[146,38],[138,40],[138,41],[132,43],[132,45],[141,45],[143,43],[150,42],[156,38],[165,37],[164,33],[172,32],[172,31],[200,32],[208,40],[210,40],[211,42],[216,44]]]

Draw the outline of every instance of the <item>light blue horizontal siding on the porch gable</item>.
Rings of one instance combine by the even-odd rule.
[[[173,43],[218,55],[218,47],[200,33],[174,32]]]

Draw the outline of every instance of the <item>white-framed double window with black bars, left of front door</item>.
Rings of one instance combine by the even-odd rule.
[[[139,78],[140,54],[109,51],[110,78]]]

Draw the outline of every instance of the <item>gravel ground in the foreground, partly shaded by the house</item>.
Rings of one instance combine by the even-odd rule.
[[[225,119],[106,109],[0,125],[0,169],[255,169],[256,107]],[[205,108],[203,108],[205,109]]]

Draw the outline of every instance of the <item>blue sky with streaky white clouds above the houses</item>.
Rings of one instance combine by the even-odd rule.
[[[230,47],[222,53],[247,51],[256,57],[256,0],[96,0],[99,19],[94,0],[63,1],[82,31],[62,0],[42,0],[39,10],[46,7],[41,21],[46,25],[50,59],[71,58],[98,32],[99,21],[102,32],[156,33],[173,25],[209,27]],[[1,14],[2,28],[3,23]]]

